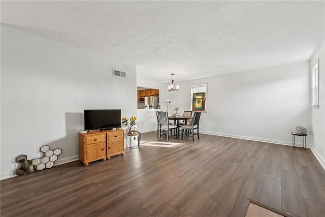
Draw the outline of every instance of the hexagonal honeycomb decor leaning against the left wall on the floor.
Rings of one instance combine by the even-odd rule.
[[[42,158],[27,160],[27,156],[25,154],[21,154],[16,158],[16,161],[21,163],[21,167],[16,170],[17,175],[32,173],[45,168],[52,168],[54,166],[54,161],[58,159],[59,154],[62,152],[60,148],[50,150],[50,146],[48,145],[43,145],[40,150],[44,153]]]

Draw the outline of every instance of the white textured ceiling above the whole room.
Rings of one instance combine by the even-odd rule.
[[[1,22],[175,81],[309,60],[325,1],[1,1]],[[110,69],[109,69],[110,70]]]

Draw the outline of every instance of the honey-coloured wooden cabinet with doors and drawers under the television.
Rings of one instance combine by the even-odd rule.
[[[79,160],[84,166],[93,161],[105,161],[117,154],[124,154],[124,130],[79,133]]]

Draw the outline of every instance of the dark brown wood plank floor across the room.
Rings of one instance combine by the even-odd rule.
[[[245,216],[247,198],[325,216],[325,171],[308,148],[150,132],[124,156],[2,180],[1,216]]]

